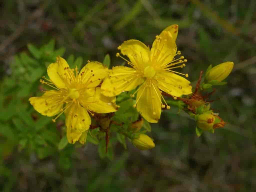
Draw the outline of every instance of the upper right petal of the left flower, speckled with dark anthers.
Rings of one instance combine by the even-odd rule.
[[[86,84],[88,88],[92,88],[97,87],[102,79],[104,79],[107,75],[108,68],[103,66],[100,62],[93,61],[87,63],[87,65],[81,69],[78,79],[82,83]]]

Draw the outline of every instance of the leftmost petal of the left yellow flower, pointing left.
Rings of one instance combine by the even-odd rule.
[[[41,97],[29,98],[29,102],[42,115],[54,116],[60,113],[60,109],[63,107],[62,98],[59,95],[61,95],[59,91],[46,91]]]

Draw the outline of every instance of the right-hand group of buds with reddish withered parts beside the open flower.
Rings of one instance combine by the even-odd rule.
[[[201,71],[193,94],[189,95],[187,98],[173,97],[174,100],[182,101],[186,105],[186,107],[182,109],[195,119],[197,136],[200,136],[204,131],[214,133],[215,129],[224,127],[227,124],[214,113],[213,110],[210,110],[210,103],[213,102],[213,100],[209,100],[209,98],[216,91],[212,89],[212,86],[226,84],[223,80],[228,77],[233,66],[233,62],[224,62],[215,67],[210,65],[206,71],[203,83],[201,83],[203,75],[203,71]],[[211,90],[211,92],[202,93],[208,90]],[[162,94],[171,96],[166,93]]]

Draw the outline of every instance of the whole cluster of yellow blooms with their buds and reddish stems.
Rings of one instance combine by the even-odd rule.
[[[78,71],[77,67],[71,69],[65,59],[57,57],[57,61],[47,68],[49,78],[43,77],[40,80],[42,84],[48,85],[53,90],[45,91],[41,97],[31,97],[29,101],[42,115],[57,115],[52,119],[53,122],[62,113],[65,114],[69,143],[79,141],[83,144],[88,130],[95,128],[91,125],[91,118],[97,120],[100,130],[106,133],[107,146],[110,125],[114,123],[122,126],[122,123],[118,124],[110,120],[114,115],[113,112],[119,108],[115,103],[116,96],[131,91],[131,99],[136,96],[133,107],[144,120],[140,116],[139,120],[132,123],[129,130],[134,134],[123,131],[120,133],[130,138],[134,146],[141,150],[153,148],[155,146],[153,140],[139,131],[145,120],[157,123],[162,110],[170,109],[166,96],[174,100],[179,99],[184,106],[187,105],[190,113],[196,115],[198,106],[207,103],[207,97],[202,96],[199,90],[221,84],[233,67],[232,62],[228,62],[229,69],[225,72],[223,70],[220,72],[220,67],[209,69],[205,83],[200,86],[200,76],[193,93],[190,81],[186,79],[188,74],[176,71],[177,68],[185,67],[187,62],[177,50],[177,35],[178,25],[171,25],[156,35],[151,48],[138,40],[124,41],[118,47],[120,53],[118,52],[116,56],[125,60],[129,67],[116,66],[108,69],[99,62],[88,62]],[[185,95],[187,98],[184,98]],[[102,113],[111,113],[111,115],[100,115]],[[215,119],[219,120],[219,124],[214,123]],[[225,125],[221,118],[211,113],[201,113],[195,120],[197,126],[203,130]]]

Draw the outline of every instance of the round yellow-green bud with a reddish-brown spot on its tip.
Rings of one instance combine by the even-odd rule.
[[[209,131],[213,129],[215,117],[210,113],[203,113],[198,115],[196,126],[202,130]]]

